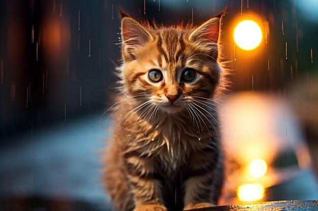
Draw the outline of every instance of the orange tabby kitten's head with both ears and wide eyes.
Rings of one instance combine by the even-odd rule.
[[[219,17],[182,28],[150,27],[123,15],[120,69],[126,91],[167,113],[212,97],[220,77],[219,27]]]

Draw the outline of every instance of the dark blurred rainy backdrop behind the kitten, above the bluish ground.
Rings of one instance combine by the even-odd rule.
[[[146,15],[143,1],[2,0],[0,4],[2,143],[17,132],[45,124],[62,126],[105,109],[115,81],[113,71],[120,64],[118,7],[136,18],[164,24],[192,22],[193,11],[193,23],[198,25],[228,6],[222,38],[226,60],[233,60],[234,92],[251,90],[252,74],[254,91],[289,91],[289,84],[307,77],[307,71],[310,77],[316,64],[311,63],[310,49],[315,60],[318,27],[298,9],[305,2],[249,1],[247,8],[243,1],[243,15],[241,1],[163,0],[159,11],[158,0],[147,0]],[[263,26],[268,22],[268,43],[263,41],[260,50],[251,52],[236,48],[234,61],[233,24],[251,13]]]

